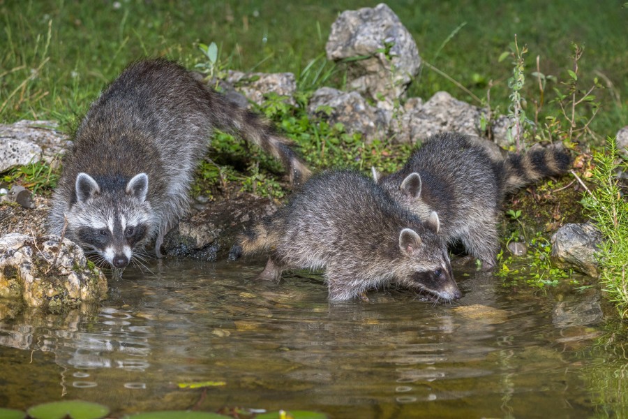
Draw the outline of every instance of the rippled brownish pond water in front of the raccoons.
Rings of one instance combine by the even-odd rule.
[[[331,418],[626,417],[625,334],[597,287],[504,287],[457,269],[464,297],[408,291],[329,303],[317,274],[255,281],[263,263],[128,269],[95,307],[0,302],[0,406],[83,399],[112,416],[223,406]],[[607,316],[605,316],[605,313]],[[615,328],[621,330],[621,328]],[[177,383],[224,381],[180,389]]]

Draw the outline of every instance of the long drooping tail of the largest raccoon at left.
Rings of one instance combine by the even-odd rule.
[[[216,126],[229,133],[241,133],[245,140],[254,142],[281,161],[290,173],[292,186],[303,184],[312,175],[306,163],[292,149],[294,142],[278,135],[260,116],[240,108],[221,94],[214,94],[212,100],[216,101],[212,107],[216,109]]]

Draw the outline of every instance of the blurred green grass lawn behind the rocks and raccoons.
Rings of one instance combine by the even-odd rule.
[[[313,59],[324,64],[331,24],[343,10],[376,1],[15,1],[0,0],[0,121],[57,119],[72,122],[129,61],[165,56],[192,67],[204,57],[198,43],[216,42],[220,59],[242,71],[290,71],[301,87],[323,80],[302,74]],[[530,73],[567,78],[571,43],[584,45],[583,86],[599,78],[602,110],[592,128],[614,135],[628,124],[628,8],[624,1],[426,1],[395,0],[389,6],[414,36],[421,57],[507,112],[510,60],[498,57],[518,37],[527,44]],[[456,31],[456,29],[458,29]],[[449,38],[451,36],[451,38]],[[331,64],[327,64],[331,66]],[[307,79],[307,80],[306,80]],[[324,80],[342,83],[342,71]],[[410,96],[447,90],[472,98],[426,67]],[[476,103],[477,104],[477,103]]]

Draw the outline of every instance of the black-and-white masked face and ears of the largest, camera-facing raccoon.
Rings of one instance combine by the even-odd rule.
[[[148,177],[135,175],[124,189],[104,190],[93,177],[79,173],[76,203],[67,214],[66,234],[110,265],[124,268],[133,249],[154,233],[151,205],[146,200]]]

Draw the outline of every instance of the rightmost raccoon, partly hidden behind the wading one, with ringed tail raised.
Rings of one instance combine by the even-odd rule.
[[[570,165],[569,154],[559,147],[499,159],[477,140],[447,133],[427,140],[398,172],[380,177],[373,170],[373,177],[419,217],[437,211],[444,240],[461,240],[483,269],[490,270],[499,249],[495,225],[504,196],[567,172]]]

